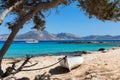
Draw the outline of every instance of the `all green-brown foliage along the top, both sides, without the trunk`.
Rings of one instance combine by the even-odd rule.
[[[22,3],[19,3],[22,1]],[[31,17],[31,20],[34,22],[35,29],[44,29],[45,26],[45,14],[43,12],[48,11],[49,5],[56,5],[52,4],[53,2],[60,2],[59,5],[68,5],[73,2],[78,2],[78,6],[84,10],[89,18],[96,17],[100,20],[120,20],[120,0],[1,0],[0,2],[0,11],[3,12],[4,10],[14,6],[14,9],[10,13],[14,13],[17,15],[17,18],[14,22],[7,23],[10,29],[13,29],[12,25],[16,24],[18,20],[24,17],[33,6],[37,4],[48,4],[48,6],[44,6],[43,9],[40,9],[39,12]],[[57,5],[58,6],[58,5]],[[46,9],[47,10],[44,10]]]

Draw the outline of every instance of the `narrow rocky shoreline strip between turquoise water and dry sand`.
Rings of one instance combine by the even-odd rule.
[[[96,43],[95,43],[96,44]],[[100,43],[99,43],[100,44]],[[116,49],[119,48],[120,46],[116,46],[116,47],[112,47],[112,48],[99,48],[99,49],[105,49],[105,51],[107,50],[111,50],[111,49]],[[26,57],[43,57],[43,56],[62,56],[62,55],[67,55],[67,56],[81,56],[82,54],[91,54],[91,53],[95,53],[98,52],[98,50],[78,50],[78,51],[70,51],[70,52],[55,52],[55,53],[46,53],[46,54],[26,54],[26,56],[19,56],[19,57],[4,57],[4,59],[25,59]]]

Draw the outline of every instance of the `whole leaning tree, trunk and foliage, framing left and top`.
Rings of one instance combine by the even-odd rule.
[[[8,13],[16,15],[12,22],[6,22],[11,33],[0,50],[0,75],[2,59],[10,44],[23,25],[32,20],[33,28],[44,29],[46,11],[56,8],[59,5],[69,6],[70,3],[77,2],[79,8],[84,10],[88,16],[96,17],[100,20],[120,20],[120,1],[119,0],[0,0],[0,24],[4,23]]]

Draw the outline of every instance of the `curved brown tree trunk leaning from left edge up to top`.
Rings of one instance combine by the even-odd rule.
[[[0,50],[0,72],[2,72],[2,69],[1,69],[2,59],[3,59],[6,51],[8,50],[9,46],[11,45],[13,39],[15,38],[17,32],[25,24],[25,22],[28,21],[34,14],[39,12],[41,9],[47,10],[49,8],[53,8],[57,5],[59,5],[61,3],[61,1],[63,1],[63,0],[56,0],[56,1],[53,1],[50,3],[40,3],[37,6],[34,6],[25,16],[20,18],[17,21],[17,23],[13,25],[12,32],[10,33],[8,39],[6,40],[5,44],[3,45],[3,47]],[[2,73],[0,73],[0,75],[1,74]]]

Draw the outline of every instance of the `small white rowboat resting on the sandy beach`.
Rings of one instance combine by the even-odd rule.
[[[67,68],[69,71],[78,67],[83,63],[82,56],[65,56],[64,58],[60,58],[60,66]]]

